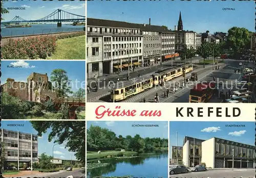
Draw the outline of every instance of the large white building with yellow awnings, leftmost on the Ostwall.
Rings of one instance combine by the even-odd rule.
[[[142,64],[143,37],[131,23],[87,18],[87,41],[88,78]]]

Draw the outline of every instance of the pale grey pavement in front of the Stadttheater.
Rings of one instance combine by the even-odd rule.
[[[223,169],[223,170],[208,170],[205,172],[188,172],[183,174],[175,174],[175,175],[169,175],[170,178],[185,178],[185,177],[193,177],[193,178],[239,178],[239,177],[246,177],[246,178],[252,178],[255,177],[255,169]]]

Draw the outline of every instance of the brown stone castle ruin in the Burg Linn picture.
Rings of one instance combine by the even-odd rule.
[[[41,102],[57,97],[57,93],[53,90],[47,74],[35,72],[28,76],[27,82],[19,82],[12,78],[7,78],[2,88],[4,92],[14,97],[19,97],[23,101]]]

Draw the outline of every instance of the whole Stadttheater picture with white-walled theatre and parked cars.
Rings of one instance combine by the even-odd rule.
[[[170,122],[169,129],[169,177],[255,175],[255,123]]]

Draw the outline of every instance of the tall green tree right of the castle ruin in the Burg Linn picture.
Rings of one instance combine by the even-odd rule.
[[[51,81],[55,82],[58,97],[67,97],[72,94],[69,77],[63,69],[54,69],[51,73]]]

